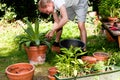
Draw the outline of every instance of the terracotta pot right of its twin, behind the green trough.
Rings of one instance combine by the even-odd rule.
[[[98,61],[105,61],[109,58],[108,53],[105,52],[94,52],[93,56],[98,60]]]

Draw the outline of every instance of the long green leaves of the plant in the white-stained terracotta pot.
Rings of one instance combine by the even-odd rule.
[[[35,24],[32,24],[27,18],[24,18],[24,21],[27,24],[27,28],[22,26],[25,34],[18,35],[15,38],[16,41],[20,44],[20,47],[22,44],[27,47],[46,44],[48,47],[50,47],[50,43],[45,37],[46,32],[39,32],[40,27],[38,20],[35,21]]]

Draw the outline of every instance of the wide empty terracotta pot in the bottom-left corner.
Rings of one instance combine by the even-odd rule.
[[[16,63],[5,70],[9,80],[32,80],[35,67],[29,63]]]

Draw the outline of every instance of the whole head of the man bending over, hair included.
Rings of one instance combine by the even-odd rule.
[[[52,0],[40,0],[38,2],[38,9],[45,14],[51,14],[54,12],[54,3]]]

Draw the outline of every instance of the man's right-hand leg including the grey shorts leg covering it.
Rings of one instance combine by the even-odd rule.
[[[86,51],[86,43],[87,43],[87,31],[85,28],[85,20],[86,20],[86,14],[88,10],[88,0],[80,0],[79,4],[76,5],[75,13],[78,20],[78,27],[80,30],[80,38],[81,41],[84,42],[85,47],[84,51]]]

